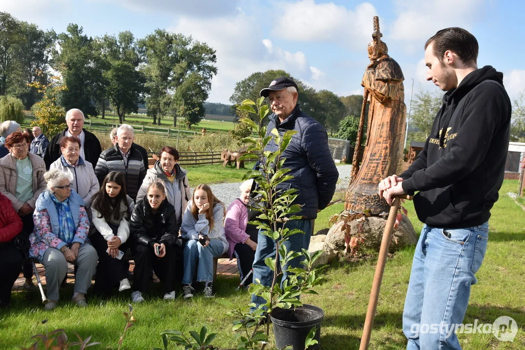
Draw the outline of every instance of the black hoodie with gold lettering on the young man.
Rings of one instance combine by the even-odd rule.
[[[425,147],[401,174],[417,217],[441,228],[479,226],[490,217],[505,174],[511,103],[503,74],[485,66],[443,97]],[[445,132],[442,132],[445,130]]]

